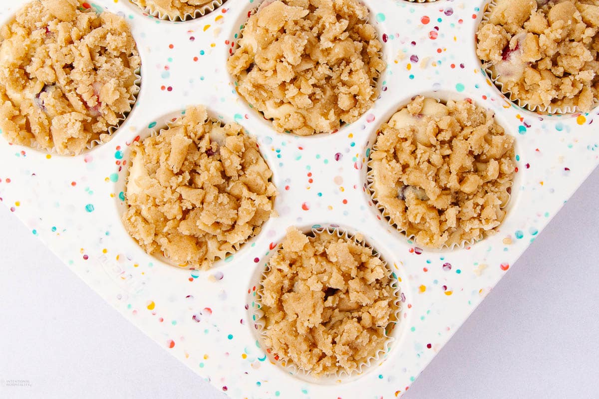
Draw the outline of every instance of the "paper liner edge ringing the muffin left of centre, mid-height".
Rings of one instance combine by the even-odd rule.
[[[212,123],[218,122],[218,123],[221,124],[221,126],[224,125],[224,123],[213,112],[211,112],[210,109],[207,109],[207,112],[208,112],[208,121],[210,121]],[[117,209],[119,210],[119,219],[122,218],[123,214],[129,208],[129,205],[127,204],[127,200],[126,200],[126,192],[127,192],[127,185],[129,183],[129,175],[131,173],[131,167],[133,166],[133,161],[131,159],[131,148],[134,145],[134,142],[138,141],[138,142],[141,143],[144,139],[149,138],[150,136],[153,136],[153,137],[158,136],[159,134],[161,134],[165,130],[168,130],[171,127],[173,127],[174,124],[177,121],[179,121],[180,118],[183,117],[183,115],[184,115],[183,112],[171,112],[170,114],[164,115],[164,117],[161,118],[161,121],[156,126],[153,126],[151,128],[147,127],[146,129],[143,130],[143,132],[140,133],[140,135],[138,135],[137,138],[135,138],[134,141],[132,141],[131,143],[127,143],[128,146],[123,151],[125,153],[123,155],[123,159],[126,159],[128,161],[129,165],[126,168],[125,178],[124,179],[119,179],[119,182],[117,182],[117,185],[116,185],[116,188],[115,188],[115,190],[116,190],[115,192],[116,193],[123,193],[123,198],[125,199],[125,200],[121,200],[117,196]],[[245,129],[244,129],[244,134],[246,134],[246,135],[248,134]],[[262,154],[261,154],[261,156],[262,156]],[[268,163],[267,163],[267,165],[268,165]],[[269,167],[270,167],[270,165],[269,165]],[[274,201],[275,201],[275,199],[271,200],[271,202],[273,203],[273,209],[274,209]],[[274,217],[274,214],[271,215],[271,217]],[[268,223],[268,221],[266,221],[264,224],[266,224],[266,223]],[[255,227],[255,229],[252,232],[252,235],[250,235],[249,237],[247,237],[247,239],[243,240],[242,242],[235,243],[232,246],[233,249],[234,249],[234,251],[220,251],[220,253],[217,255],[217,259],[214,260],[214,262],[213,262],[213,266],[211,266],[210,268],[207,268],[207,269],[197,269],[196,267],[187,266],[187,264],[177,264],[177,263],[174,263],[172,260],[170,260],[170,258],[166,257],[161,252],[153,252],[153,253],[151,253],[149,255],[155,257],[156,259],[158,259],[159,261],[161,261],[163,263],[170,264],[171,266],[180,267],[182,269],[188,269],[188,270],[213,270],[216,267],[221,266],[222,261],[225,260],[227,257],[229,257],[230,255],[236,254],[241,249],[241,247],[243,245],[245,245],[247,242],[249,242],[253,237],[258,236],[258,234],[262,230],[262,227],[264,227],[264,224],[262,224],[262,226]],[[125,231],[126,231],[126,229],[125,229]],[[141,248],[141,245],[137,242],[137,240],[135,240],[131,236],[131,234],[129,234],[128,231],[126,231],[126,234],[129,237],[129,239],[131,239],[132,242],[134,242],[135,245],[138,246],[138,248],[140,248],[142,251],[144,251],[144,249]]]

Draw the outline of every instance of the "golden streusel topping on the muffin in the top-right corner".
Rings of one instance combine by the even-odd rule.
[[[477,54],[522,105],[588,112],[599,101],[599,0],[498,0]]]

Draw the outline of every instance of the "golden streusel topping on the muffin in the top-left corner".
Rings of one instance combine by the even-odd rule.
[[[14,144],[78,154],[131,110],[140,57],[129,25],[79,4],[34,1],[0,29],[0,129]]]

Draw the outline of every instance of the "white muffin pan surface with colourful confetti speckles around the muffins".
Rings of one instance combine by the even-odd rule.
[[[2,22],[23,4],[2,0]],[[256,4],[228,0],[204,17],[172,23],[123,0],[90,3],[132,26],[142,58],[137,103],[110,142],[76,157],[10,145],[0,134],[1,200],[93,290],[233,398],[400,397],[599,164],[598,110],[546,117],[507,102],[474,52],[482,0],[370,0],[388,63],[374,108],[332,135],[276,133],[235,93],[225,68]],[[470,98],[497,112],[516,137],[518,173],[506,220],[495,236],[466,248],[416,248],[381,220],[365,190],[365,157],[377,127],[419,93]],[[120,222],[128,146],[197,103],[258,138],[280,192],[279,217],[208,272],[147,255]],[[286,227],[317,224],[364,234],[403,293],[388,353],[349,381],[314,383],[271,363],[251,319],[256,276],[269,251]]]

